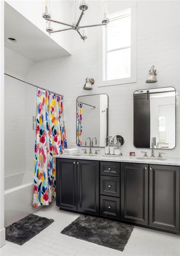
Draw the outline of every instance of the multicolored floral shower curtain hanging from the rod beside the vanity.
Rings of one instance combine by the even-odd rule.
[[[53,155],[67,148],[63,97],[37,89],[33,207],[49,205],[56,197]]]

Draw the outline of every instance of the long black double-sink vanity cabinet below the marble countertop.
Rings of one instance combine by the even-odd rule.
[[[56,158],[56,205],[180,234],[180,167]]]

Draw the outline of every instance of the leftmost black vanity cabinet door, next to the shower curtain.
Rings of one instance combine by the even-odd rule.
[[[77,211],[77,160],[56,158],[56,205]]]

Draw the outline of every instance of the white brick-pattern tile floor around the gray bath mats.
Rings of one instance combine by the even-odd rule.
[[[36,212],[55,221],[22,246],[6,241],[0,255],[11,256],[180,256],[180,236],[134,227],[124,251],[120,252],[62,235],[60,231],[79,214],[60,211],[55,202]]]

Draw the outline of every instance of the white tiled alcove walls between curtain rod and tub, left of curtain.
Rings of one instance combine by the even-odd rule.
[[[5,176],[27,171],[33,175],[33,116],[36,88],[5,76]]]

